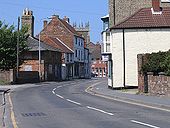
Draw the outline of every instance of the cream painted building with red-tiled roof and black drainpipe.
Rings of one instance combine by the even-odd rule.
[[[159,1],[159,0],[158,0]],[[111,28],[110,87],[138,85],[137,54],[170,49],[170,8],[143,8]]]

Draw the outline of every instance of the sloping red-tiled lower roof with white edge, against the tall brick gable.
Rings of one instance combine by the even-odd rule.
[[[72,49],[70,49],[66,44],[64,44],[58,38],[46,36],[43,37],[42,40],[55,48],[61,49],[61,51],[64,53],[74,53]]]

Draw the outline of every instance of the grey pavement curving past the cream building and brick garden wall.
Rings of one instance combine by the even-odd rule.
[[[138,94],[137,89],[113,90],[105,83],[92,85],[88,91],[104,98],[170,112],[170,97]]]

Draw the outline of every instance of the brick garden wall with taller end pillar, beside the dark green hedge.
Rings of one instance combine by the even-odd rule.
[[[138,91],[157,96],[170,96],[170,77],[160,73],[159,76],[154,76],[148,72],[143,74],[141,66],[147,60],[147,54],[139,54],[138,58]]]

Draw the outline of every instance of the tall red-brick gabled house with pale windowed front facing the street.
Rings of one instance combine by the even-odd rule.
[[[79,34],[74,27],[70,25],[69,18],[59,18],[58,15],[53,15],[52,20],[47,23],[44,22],[44,28],[40,32],[41,38],[52,37],[69,48],[73,54],[73,78],[84,78],[85,76],[90,77],[90,73],[85,69],[85,49],[84,49],[84,38]],[[64,55],[63,55],[64,56]],[[65,63],[63,63],[64,65]],[[88,62],[90,64],[90,62]],[[88,66],[87,66],[88,67]],[[88,77],[88,78],[89,78]]]

